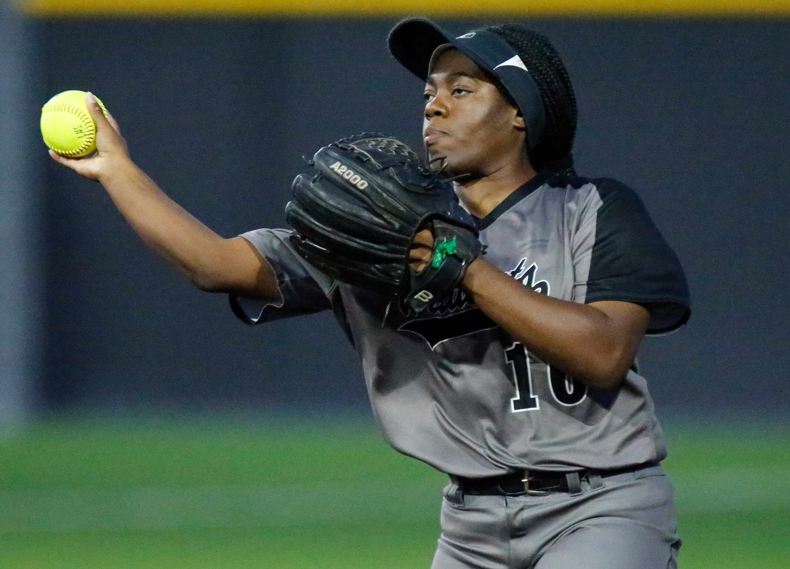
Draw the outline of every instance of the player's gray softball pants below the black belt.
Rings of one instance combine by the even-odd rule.
[[[431,569],[675,569],[674,489],[660,465],[570,496],[464,496],[448,484]]]

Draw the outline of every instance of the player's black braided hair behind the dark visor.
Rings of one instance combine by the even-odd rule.
[[[562,59],[546,36],[523,24],[498,24],[486,28],[501,36],[516,51],[535,80],[546,111],[540,141],[529,151],[532,168],[570,156],[576,134],[576,96]],[[510,96],[508,96],[510,99]]]

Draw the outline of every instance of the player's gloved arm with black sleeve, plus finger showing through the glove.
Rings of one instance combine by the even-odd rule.
[[[687,322],[683,268],[634,190],[611,179],[596,180],[582,202],[570,247],[581,275],[574,300],[535,292],[484,257],[470,264],[462,287],[547,364],[594,388],[614,388],[645,333],[669,333]],[[412,269],[430,261],[432,251],[431,232],[419,232]]]

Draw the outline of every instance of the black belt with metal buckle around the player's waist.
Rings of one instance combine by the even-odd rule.
[[[546,496],[551,492],[570,492],[568,478],[578,475],[578,480],[589,480],[591,474],[601,478],[612,477],[617,474],[636,472],[657,462],[649,462],[638,466],[628,466],[622,469],[611,470],[572,470],[569,472],[547,472],[540,470],[518,470],[514,473],[486,478],[452,477],[458,488],[469,496],[502,496],[505,494],[532,494],[533,496]],[[578,484],[578,482],[577,482]]]

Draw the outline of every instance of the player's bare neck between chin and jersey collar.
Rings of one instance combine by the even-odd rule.
[[[455,193],[468,213],[482,219],[513,191],[529,182],[535,174],[532,165],[525,160],[523,163],[509,164],[495,169],[490,174],[469,182],[456,183]]]

